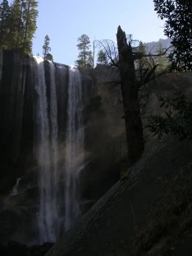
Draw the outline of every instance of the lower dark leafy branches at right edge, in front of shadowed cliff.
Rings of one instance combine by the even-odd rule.
[[[164,115],[149,117],[147,126],[159,138],[164,134],[179,135],[180,139],[192,139],[192,103],[176,92],[171,98],[160,97]]]

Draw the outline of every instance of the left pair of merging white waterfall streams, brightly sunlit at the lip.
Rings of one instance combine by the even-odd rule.
[[[36,67],[35,90],[38,94],[36,107],[37,159],[39,164],[39,239],[57,239],[57,97],[54,66],[50,63],[51,107],[48,118],[48,98],[42,57],[34,57]],[[50,120],[50,125],[49,125]]]

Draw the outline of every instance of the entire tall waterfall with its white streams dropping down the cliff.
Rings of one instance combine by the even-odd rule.
[[[49,67],[49,80],[45,80],[44,65]],[[37,94],[34,103],[37,134],[35,152],[39,166],[39,240],[40,243],[55,242],[80,217],[79,174],[84,167],[81,77],[80,71],[74,66],[70,66],[68,74],[66,68],[57,70],[57,82],[63,83],[63,75],[68,75],[66,153],[61,156],[58,150],[57,102],[62,103],[63,86],[66,85],[57,84],[60,88],[57,98],[55,66],[53,62],[44,63],[41,57],[34,57],[34,74]],[[59,165],[59,155],[65,159],[64,167]],[[65,205],[62,205],[64,197]]]

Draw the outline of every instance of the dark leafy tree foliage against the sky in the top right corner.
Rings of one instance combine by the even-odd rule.
[[[165,19],[164,33],[171,38],[173,50],[169,55],[172,68],[192,71],[192,3],[191,0],[153,0],[155,11]]]

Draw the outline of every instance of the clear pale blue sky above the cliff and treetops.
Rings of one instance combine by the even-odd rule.
[[[153,0],[39,0],[33,53],[43,55],[48,34],[54,62],[73,65],[81,34],[87,34],[91,43],[94,39],[116,42],[118,25],[144,43],[166,39],[164,22],[153,9]]]

